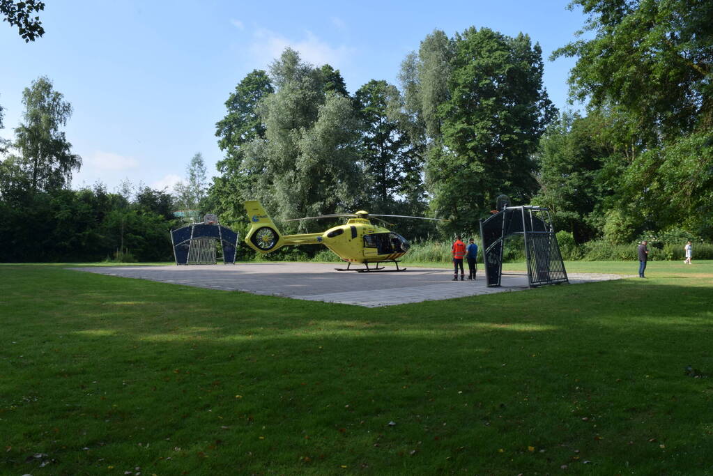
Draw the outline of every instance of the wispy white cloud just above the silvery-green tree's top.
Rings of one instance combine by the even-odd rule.
[[[312,31],[305,31],[304,35],[305,38],[293,41],[274,31],[260,29],[255,32],[250,52],[262,63],[270,63],[275,58],[279,58],[284,48],[289,46],[289,48],[299,51],[299,56],[308,63],[315,66],[329,63],[335,68],[338,68],[340,63],[347,61],[349,55],[354,52],[354,48],[347,48],[344,45],[332,47],[329,43],[317,38]]]

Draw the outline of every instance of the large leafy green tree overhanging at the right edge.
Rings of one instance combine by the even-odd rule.
[[[610,104],[630,124],[618,215],[641,227],[713,237],[713,5],[701,0],[575,0],[588,15],[571,93]],[[613,215],[612,215],[613,216]],[[613,226],[613,225],[612,225]]]

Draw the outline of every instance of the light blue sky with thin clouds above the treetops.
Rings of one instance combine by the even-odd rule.
[[[25,43],[0,23],[0,105],[11,138],[22,90],[48,76],[74,109],[65,131],[83,158],[73,187],[121,180],[162,189],[202,152],[215,175],[215,123],[247,73],[290,46],[314,65],[339,69],[350,93],[371,79],[396,84],[407,53],[434,29],[453,36],[487,26],[528,33],[543,48],[545,87],[567,108],[573,61],[548,61],[585,17],[567,0],[106,1],[46,0],[45,35]]]

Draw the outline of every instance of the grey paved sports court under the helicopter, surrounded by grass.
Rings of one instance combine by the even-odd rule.
[[[223,291],[245,291],[253,294],[367,307],[528,289],[527,276],[523,274],[503,274],[501,287],[488,288],[482,265],[476,281],[466,279],[466,281],[456,282],[451,281],[453,271],[443,268],[409,268],[401,272],[357,273],[336,271],[335,267],[342,267],[342,265],[339,263],[239,263],[71,269]],[[572,284],[607,281],[621,277],[616,274],[569,274]]]

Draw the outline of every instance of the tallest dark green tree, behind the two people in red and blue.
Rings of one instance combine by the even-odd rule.
[[[471,27],[455,48],[450,98],[438,108],[445,148],[426,172],[432,207],[453,229],[476,229],[497,195],[525,201],[537,190],[532,155],[555,108],[529,36]]]

